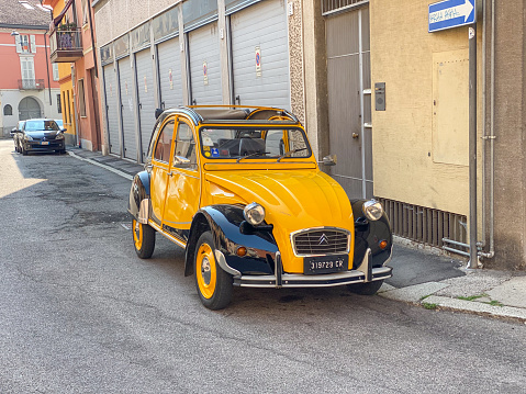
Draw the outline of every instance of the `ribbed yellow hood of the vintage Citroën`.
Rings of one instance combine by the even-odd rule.
[[[257,202],[266,222],[276,229],[294,230],[333,226],[354,233],[352,207],[344,189],[331,177],[313,170],[256,170],[206,173],[213,203]]]

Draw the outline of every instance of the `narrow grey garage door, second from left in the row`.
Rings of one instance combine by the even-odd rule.
[[[121,115],[124,137],[124,157],[137,159],[135,112],[133,106],[133,75],[130,57],[119,60],[119,87],[121,89]]]

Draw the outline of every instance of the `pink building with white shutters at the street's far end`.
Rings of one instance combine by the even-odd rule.
[[[61,119],[58,68],[49,61],[51,13],[38,0],[0,0],[0,136],[19,121]]]

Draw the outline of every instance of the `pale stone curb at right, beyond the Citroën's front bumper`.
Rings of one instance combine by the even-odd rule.
[[[485,317],[512,319],[526,324],[526,309],[524,308],[514,306],[495,306],[475,301],[434,295],[434,293],[447,286],[448,284],[440,282],[427,282],[402,289],[383,285],[378,292],[378,295],[389,300],[418,305],[428,309],[463,312]]]

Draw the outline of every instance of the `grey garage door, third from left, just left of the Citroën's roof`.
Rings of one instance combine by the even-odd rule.
[[[143,160],[149,145],[149,137],[155,124],[155,89],[154,64],[149,48],[135,54],[135,69],[137,70],[138,114],[141,124],[141,142]]]

